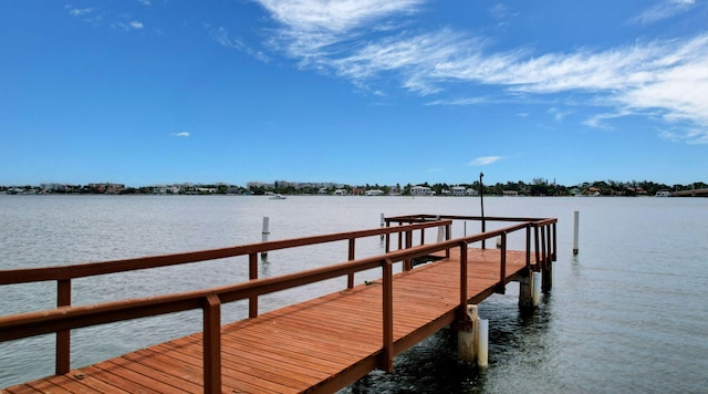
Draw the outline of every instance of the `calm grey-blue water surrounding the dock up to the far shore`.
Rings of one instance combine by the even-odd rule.
[[[580,255],[572,256],[573,211],[581,212]],[[477,198],[148,197],[0,195],[0,267],[101,261],[378,227],[379,215],[479,215]],[[558,217],[559,258],[551,294],[519,313],[518,284],[480,304],[490,321],[490,366],[460,363],[457,338],[442,331],[346,393],[705,393],[708,390],[708,199],[485,198],[488,216]],[[476,231],[468,225],[467,231]],[[456,236],[464,227],[457,226]],[[376,239],[357,256],[377,255]],[[345,245],[273,251],[261,276],[346,260]],[[73,303],[240,281],[244,259],[74,281]],[[357,282],[367,279],[365,273]],[[261,310],[341,289],[330,281],[261,301]],[[53,283],[0,288],[0,315],[52,308]],[[223,311],[239,319],[244,304]],[[200,313],[76,330],[72,365],[200,330]],[[140,333],[136,338],[135,332]],[[144,334],[144,336],[143,336]],[[52,374],[53,338],[0,343],[0,387]]]

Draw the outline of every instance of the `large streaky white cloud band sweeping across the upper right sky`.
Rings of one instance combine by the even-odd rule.
[[[424,0],[257,1],[278,23],[270,30],[269,48],[299,60],[301,68],[347,79],[364,91],[403,89],[435,96],[452,86],[486,86],[496,89],[496,101],[572,93],[574,105],[603,113],[586,125],[659,114],[667,123],[708,127],[708,33],[538,54],[530,46],[493,51],[488,39],[451,28],[409,29],[424,11]],[[636,20],[660,20],[694,3],[664,0]],[[489,11],[508,13],[502,3]],[[217,37],[223,45],[242,46],[228,35]],[[479,100],[431,100],[427,105],[472,105]],[[553,113],[558,121],[565,115]]]

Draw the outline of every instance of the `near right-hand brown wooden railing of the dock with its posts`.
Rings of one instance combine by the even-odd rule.
[[[464,311],[467,308],[468,293],[467,293],[467,272],[468,272],[468,259],[467,259],[467,246],[469,243],[478,242],[485,239],[501,237],[501,253],[500,253],[500,282],[498,287],[503,288],[506,276],[506,250],[507,250],[507,235],[510,232],[525,229],[527,234],[527,248],[531,245],[530,237],[535,235],[535,243],[539,241],[544,245],[542,253],[543,260],[551,259],[555,252],[555,222],[556,219],[548,219],[541,222],[525,222],[510,226],[502,229],[491,230],[473,236],[468,236],[459,239],[445,240],[442,242],[419,245],[409,247],[408,249],[399,249],[396,251],[387,252],[375,257],[351,260],[341,262],[333,266],[311,269],[296,273],[289,273],[274,278],[256,279],[247,282],[190,291],[184,293],[174,293],[157,296],[143,299],[113,301],[94,305],[80,305],[80,307],[60,307],[52,310],[20,313],[8,317],[0,317],[0,342],[11,341],[33,335],[46,334],[46,333],[62,333],[69,332],[69,330],[105,324],[117,321],[133,320],[138,318],[159,315],[166,313],[174,313],[185,310],[201,309],[204,313],[204,382],[205,392],[220,392],[221,390],[221,363],[220,363],[220,305],[222,303],[233,302],[243,299],[252,299],[262,294],[287,290],[295,287],[301,287],[310,283],[314,283],[322,280],[327,280],[341,276],[351,276],[355,272],[360,272],[367,269],[381,268],[382,269],[382,350],[379,359],[379,367],[386,371],[393,369],[393,359],[396,355],[393,344],[393,271],[392,267],[395,262],[407,261],[414,258],[427,256],[437,251],[447,251],[450,249],[460,248],[460,305],[459,311]],[[417,226],[417,225],[416,225]],[[531,228],[535,231],[531,231]],[[420,227],[425,228],[425,227]],[[539,228],[549,229],[548,237],[542,236],[539,239]],[[383,234],[391,234],[400,231],[399,228],[391,228],[392,231],[384,231]],[[551,229],[553,229],[553,237],[550,237]],[[371,231],[355,231],[355,232],[371,232],[372,235],[379,235],[382,232]],[[324,236],[322,238],[327,238]],[[303,239],[275,241],[282,242],[281,245],[290,245],[289,241],[301,242]],[[552,243],[551,243],[552,241]],[[270,242],[269,242],[270,243]],[[232,249],[232,248],[231,248]],[[270,249],[272,250],[272,249]],[[207,251],[209,252],[209,251]],[[194,256],[196,252],[186,253]],[[207,253],[209,255],[209,253]],[[179,256],[179,255],[177,255]],[[209,255],[211,256],[211,255]],[[530,252],[527,250],[527,266],[530,265]],[[537,247],[537,266],[541,263],[539,260],[539,251]],[[351,256],[350,256],[351,257]],[[0,274],[8,271],[0,271]],[[65,279],[62,279],[65,280]],[[60,280],[60,283],[62,282]],[[61,288],[61,286],[60,286]],[[459,313],[459,317],[462,314]],[[58,363],[60,362],[60,349],[61,344],[58,342]],[[69,349],[62,349],[61,352],[66,352],[66,372],[69,372]],[[59,369],[59,365],[58,365]],[[66,372],[56,372],[62,374]]]

